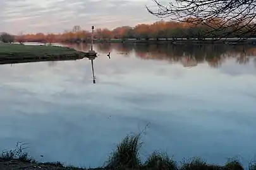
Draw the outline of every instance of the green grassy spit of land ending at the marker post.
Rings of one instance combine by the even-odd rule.
[[[83,52],[71,48],[45,45],[0,43],[0,64],[49,60],[76,60],[85,57]]]

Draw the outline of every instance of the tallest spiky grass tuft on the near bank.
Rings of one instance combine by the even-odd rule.
[[[140,167],[139,150],[142,146],[139,135],[126,135],[118,145],[118,148],[111,153],[107,163],[108,168],[118,169],[120,167]]]

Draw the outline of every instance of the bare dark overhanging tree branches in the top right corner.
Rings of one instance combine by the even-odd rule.
[[[150,14],[199,26],[208,37],[245,39],[256,35],[256,0],[173,0],[169,6],[152,1],[158,10],[147,7]]]

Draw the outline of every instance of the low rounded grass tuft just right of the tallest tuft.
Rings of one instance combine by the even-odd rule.
[[[159,153],[157,151],[153,152],[145,162],[145,166],[154,169],[168,169],[177,170],[178,166],[173,159],[171,159],[168,154]]]

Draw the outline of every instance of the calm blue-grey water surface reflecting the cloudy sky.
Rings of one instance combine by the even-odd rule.
[[[155,149],[177,161],[253,159],[256,48],[101,44],[95,50],[97,84],[88,59],[0,65],[0,150],[22,141],[38,161],[102,166],[126,134],[149,124],[142,159]]]

